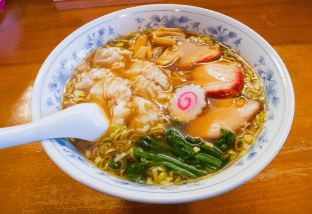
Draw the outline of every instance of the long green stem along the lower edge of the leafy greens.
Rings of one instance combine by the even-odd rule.
[[[188,170],[192,173],[194,173],[195,175],[198,176],[205,176],[207,175],[207,172],[205,170],[202,169],[197,169],[194,166],[184,163],[180,160],[177,160],[173,157],[166,157],[163,155],[157,155],[157,154],[152,154],[152,153],[148,153],[148,152],[144,152],[141,151],[140,149],[138,149],[137,147],[134,148],[133,150],[133,154],[140,156],[140,157],[144,157],[150,160],[154,160],[154,161],[165,161],[165,162],[170,162],[172,164],[175,164],[177,167],[180,167],[182,169]]]

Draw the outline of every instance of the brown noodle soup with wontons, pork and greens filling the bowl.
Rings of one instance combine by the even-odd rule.
[[[265,92],[254,69],[214,38],[160,27],[110,41],[73,71],[62,108],[97,103],[110,128],[70,139],[99,169],[132,182],[214,175],[254,143]]]

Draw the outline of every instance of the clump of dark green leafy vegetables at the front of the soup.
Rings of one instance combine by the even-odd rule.
[[[179,121],[176,121],[175,126],[178,125]],[[133,154],[140,157],[138,160],[144,162],[126,166],[125,173],[130,181],[137,183],[145,181],[146,169],[151,166],[164,166],[189,178],[205,176],[208,172],[202,169],[203,166],[219,170],[230,160],[230,156],[223,160],[222,151],[233,146],[233,133],[224,129],[221,129],[221,132],[223,135],[216,141],[215,147],[209,147],[200,140],[185,137],[175,128],[166,130],[167,137],[163,141],[156,139],[153,135],[150,138],[140,137],[135,143]],[[195,146],[200,149],[198,153],[195,153],[193,149]],[[146,160],[154,162],[148,163],[145,162]],[[111,161],[110,167],[117,169],[120,167],[117,164],[118,162]]]

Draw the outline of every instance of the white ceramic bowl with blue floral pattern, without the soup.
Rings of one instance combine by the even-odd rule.
[[[155,26],[179,27],[214,36],[236,48],[264,82],[268,116],[252,149],[212,178],[179,186],[147,186],[107,175],[80,156],[62,139],[44,140],[49,157],[72,178],[101,193],[145,203],[184,203],[226,193],[258,174],[275,157],[290,131],[294,92],[289,73],[274,49],[261,36],[233,18],[203,8],[157,4],[120,10],[97,18],[66,37],[48,56],[37,76],[32,119],[59,111],[66,79],[78,62],[109,39]]]

